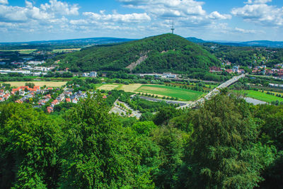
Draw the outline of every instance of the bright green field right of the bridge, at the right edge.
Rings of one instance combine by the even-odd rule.
[[[272,101],[277,101],[277,100],[279,102],[283,101],[283,98],[281,98],[281,97],[272,96],[270,94],[262,93],[260,91],[245,90],[245,91],[241,91],[241,93],[246,93],[247,97],[255,98],[255,99],[258,99],[260,101],[265,101],[267,103],[271,103]]]

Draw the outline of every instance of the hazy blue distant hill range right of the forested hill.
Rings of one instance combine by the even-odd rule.
[[[247,41],[247,42],[219,42],[219,41],[206,41],[198,38],[187,38],[191,42],[197,43],[206,43],[206,42],[214,42],[221,45],[229,45],[229,46],[238,46],[238,47],[283,47],[282,41],[270,41],[270,40],[254,40],[254,41]]]

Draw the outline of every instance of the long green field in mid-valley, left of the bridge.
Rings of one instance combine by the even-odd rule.
[[[162,96],[171,96],[185,101],[195,101],[197,98],[200,98],[205,94],[200,91],[192,91],[185,88],[159,85],[142,85],[135,91],[141,93],[154,93]]]

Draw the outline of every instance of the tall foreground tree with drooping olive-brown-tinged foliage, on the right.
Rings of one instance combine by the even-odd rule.
[[[225,94],[206,101],[193,115],[187,148],[187,187],[254,188],[272,150],[256,144],[257,125],[248,104]]]

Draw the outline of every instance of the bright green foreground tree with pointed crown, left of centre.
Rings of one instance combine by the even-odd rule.
[[[98,95],[67,113],[61,188],[152,187],[150,171],[139,166],[142,144],[106,107]]]

